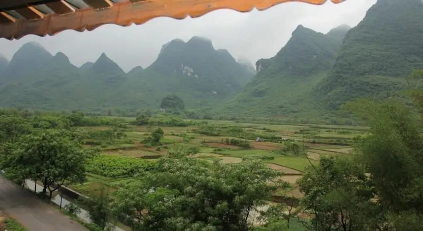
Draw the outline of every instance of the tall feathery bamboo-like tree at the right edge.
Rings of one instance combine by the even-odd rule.
[[[421,119],[395,101],[360,100],[349,107],[371,126],[366,138],[357,139],[356,151],[385,209],[423,212]]]

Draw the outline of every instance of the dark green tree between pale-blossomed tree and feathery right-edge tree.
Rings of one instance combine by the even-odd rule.
[[[313,214],[311,230],[375,230],[379,215],[363,165],[342,156],[322,157],[299,180],[302,208]]]

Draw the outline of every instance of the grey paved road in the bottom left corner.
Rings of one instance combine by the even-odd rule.
[[[3,174],[0,174],[0,210],[30,231],[87,231],[83,225],[6,179]]]

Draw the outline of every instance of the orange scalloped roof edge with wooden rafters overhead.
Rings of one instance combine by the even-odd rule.
[[[34,3],[37,0],[0,0],[0,9],[4,9],[2,1]],[[31,6],[16,9],[27,20],[9,19],[10,15],[2,12],[6,15],[0,15],[0,38],[55,35],[64,30],[91,31],[105,24],[139,25],[158,17],[196,18],[219,9],[249,12],[256,8],[262,11],[285,2],[321,5],[329,0],[126,0],[114,4],[111,0],[83,1],[89,8],[75,10],[65,1],[38,0],[37,3],[45,4],[55,13],[48,15]],[[344,0],[330,1],[340,3]]]

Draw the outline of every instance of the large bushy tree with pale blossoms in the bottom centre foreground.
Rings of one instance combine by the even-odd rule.
[[[116,206],[133,230],[248,230],[248,218],[281,186],[279,172],[257,160],[208,163],[192,157],[161,158],[129,189],[119,189]]]

